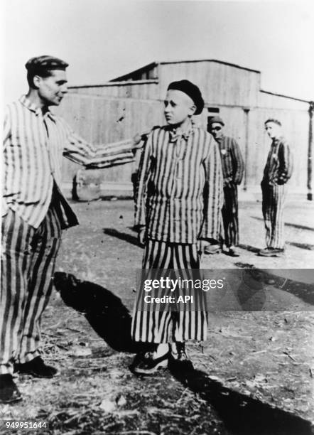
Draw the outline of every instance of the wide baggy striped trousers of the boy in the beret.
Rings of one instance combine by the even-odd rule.
[[[170,269],[169,273],[183,272],[185,279],[200,278],[200,256],[196,244],[179,244],[148,240],[144,248],[143,269]],[[196,269],[196,270],[195,270]],[[196,275],[195,275],[196,272]],[[178,276],[170,276],[178,278]],[[173,343],[185,340],[205,340],[207,335],[207,310],[204,291],[195,289],[197,306],[202,307],[195,311],[188,308],[170,311],[160,306],[158,311],[141,310],[141,301],[144,299],[143,286],[136,297],[134,316],[132,319],[131,334],[135,341],[144,343]],[[184,296],[185,289],[176,290],[176,296]],[[170,295],[163,292],[161,294]],[[173,294],[171,294],[173,296]],[[173,309],[173,306],[171,306]]]

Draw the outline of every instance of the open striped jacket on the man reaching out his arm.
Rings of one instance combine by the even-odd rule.
[[[24,95],[4,113],[4,170],[2,215],[8,208],[38,228],[48,212],[53,190],[63,228],[77,224],[60,192],[62,157],[87,168],[106,168],[134,161],[131,141],[95,149],[50,110],[43,114]]]

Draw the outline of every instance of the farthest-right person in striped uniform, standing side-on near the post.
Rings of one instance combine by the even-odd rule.
[[[261,181],[266,248],[261,249],[259,255],[280,257],[285,249],[283,209],[286,183],[292,175],[293,161],[289,145],[282,136],[281,122],[278,119],[267,119],[265,129],[271,138],[271,149]]]

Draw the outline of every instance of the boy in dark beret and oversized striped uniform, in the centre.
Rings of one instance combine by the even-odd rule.
[[[144,244],[143,269],[184,269],[192,276],[189,270],[200,268],[208,240],[219,237],[222,167],[216,142],[191,122],[204,107],[198,87],[188,80],[172,82],[164,104],[167,125],[148,134],[141,155],[135,224]],[[153,343],[153,350],[136,355],[134,372],[151,374],[169,360],[190,363],[185,341],[205,340],[205,306],[200,311],[141,311],[142,297],[140,289],[132,336]]]

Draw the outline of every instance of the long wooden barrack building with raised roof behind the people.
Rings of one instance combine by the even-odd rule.
[[[259,192],[270,144],[264,122],[276,117],[293,151],[291,190],[311,198],[313,102],[261,90],[259,71],[220,60],[154,62],[103,85],[70,87],[59,112],[94,144],[119,141],[164,124],[166,89],[171,81],[182,79],[193,81],[202,91],[205,109],[196,121],[206,128],[207,119],[220,114],[225,133],[239,142],[246,165],[242,190]],[[102,188],[131,193],[135,166],[102,170]],[[77,169],[65,161],[67,185]]]

